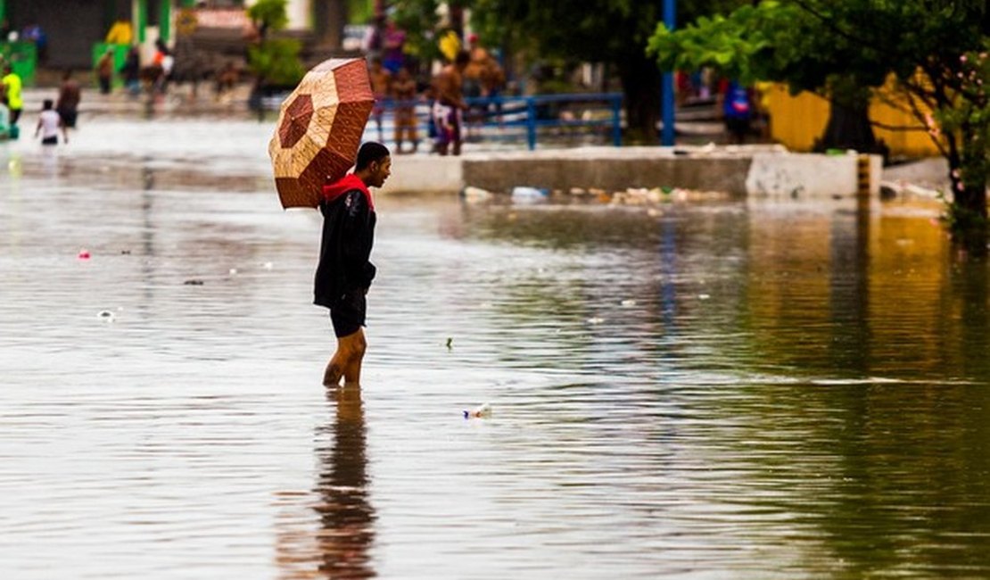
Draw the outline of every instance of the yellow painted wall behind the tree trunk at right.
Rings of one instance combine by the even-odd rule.
[[[894,95],[891,83],[880,91],[880,98],[870,104],[869,116],[874,123],[887,127],[910,127],[912,131],[873,128],[873,135],[890,147],[892,155],[931,157],[940,154],[938,147],[917,119],[909,112],[904,97]],[[792,96],[787,87],[774,84],[766,90],[764,103],[770,113],[770,137],[795,151],[808,151],[825,132],[829,120],[829,102],[809,92]]]

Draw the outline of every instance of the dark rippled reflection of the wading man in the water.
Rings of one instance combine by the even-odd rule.
[[[317,447],[320,475],[316,492],[322,502],[320,572],[327,578],[370,578],[368,561],[374,539],[374,512],[367,499],[367,458],[364,455],[364,411],[360,387],[328,389],[337,403],[337,422],[324,435],[333,435],[329,447]],[[327,440],[328,436],[318,437]]]

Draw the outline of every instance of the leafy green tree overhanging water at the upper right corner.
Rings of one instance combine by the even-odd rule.
[[[983,254],[988,35],[985,0],[764,0],[673,32],[661,24],[649,51],[664,69],[712,66],[863,111],[870,89],[893,75],[948,160],[956,239]]]

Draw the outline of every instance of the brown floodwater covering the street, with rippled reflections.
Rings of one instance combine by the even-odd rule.
[[[990,576],[936,205],[381,196],[328,393],[271,126],[80,125],[0,145],[4,578]]]

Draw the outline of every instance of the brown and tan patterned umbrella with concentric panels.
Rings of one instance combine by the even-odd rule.
[[[283,208],[320,205],[323,184],[354,164],[373,105],[363,58],[331,58],[306,73],[268,143]]]

